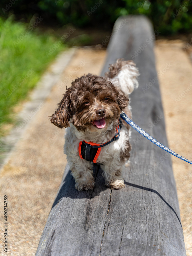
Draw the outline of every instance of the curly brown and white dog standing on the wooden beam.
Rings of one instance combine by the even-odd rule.
[[[128,95],[138,87],[138,69],[133,61],[118,59],[109,70],[105,78],[90,73],[76,78],[50,119],[59,128],[68,127],[64,152],[78,190],[94,187],[93,162],[80,157],[80,142],[104,144],[114,137],[122,110],[132,118]],[[122,172],[130,157],[129,129],[123,122],[119,139],[101,147],[97,158],[112,189],[125,186]]]

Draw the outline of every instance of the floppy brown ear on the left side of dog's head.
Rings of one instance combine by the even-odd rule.
[[[66,93],[63,95],[62,100],[57,105],[57,109],[54,114],[52,114],[50,121],[59,128],[67,128],[70,126],[70,119],[74,113],[74,106],[70,99],[70,89],[67,89]]]

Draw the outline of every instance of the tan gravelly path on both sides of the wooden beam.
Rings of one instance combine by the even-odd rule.
[[[190,87],[192,65],[182,50],[183,43],[158,41],[155,47],[157,71],[162,90],[169,147],[191,159],[192,119]],[[8,253],[1,255],[32,256],[61,182],[66,165],[63,154],[64,130],[47,119],[65,91],[65,84],[84,73],[100,74],[105,59],[104,50],[77,49],[60,80],[52,87],[41,108],[23,130],[0,177],[1,198],[8,196]],[[168,66],[167,66],[168,65]],[[171,65],[171,66],[170,66]],[[160,75],[161,74],[161,75]],[[182,94],[187,88],[191,90]],[[150,90],[150,89],[149,89]],[[178,99],[179,95],[181,99]],[[155,124],[151,124],[154,126]],[[184,125],[184,127],[182,127]],[[192,166],[173,157],[173,169],[187,255],[192,255]],[[73,202],[71,202],[73,203]],[[3,207],[0,216],[3,216]],[[3,231],[3,219],[1,230]],[[2,236],[3,238],[3,236]],[[2,241],[2,239],[1,239]]]

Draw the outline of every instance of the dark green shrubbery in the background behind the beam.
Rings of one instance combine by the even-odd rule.
[[[15,0],[12,0],[13,2]],[[30,19],[34,13],[60,26],[112,28],[120,15],[144,14],[161,35],[192,31],[192,0],[1,0],[2,15],[14,12],[18,18]],[[6,10],[7,7],[7,10]]]

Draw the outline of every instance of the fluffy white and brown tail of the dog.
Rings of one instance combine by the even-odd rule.
[[[139,86],[137,77],[140,74],[132,60],[118,59],[116,63],[109,66],[109,70],[105,73],[105,77],[125,95],[129,95]]]

